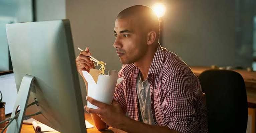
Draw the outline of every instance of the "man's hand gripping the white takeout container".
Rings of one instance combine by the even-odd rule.
[[[98,109],[91,109],[85,106],[85,110],[88,113],[97,114],[102,121],[111,127],[119,128],[122,125],[123,119],[126,116],[123,114],[121,106],[115,100],[113,100],[112,105],[99,102],[88,96],[86,97],[86,100],[91,104],[98,106]]]

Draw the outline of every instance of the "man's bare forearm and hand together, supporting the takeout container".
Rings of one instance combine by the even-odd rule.
[[[111,127],[132,133],[178,133],[177,131],[171,130],[168,127],[148,125],[128,118],[124,115],[121,106],[115,100],[113,100],[112,105],[108,105],[96,101],[88,96],[86,99],[93,105],[98,106],[98,109],[91,109],[85,106],[85,110],[89,113],[99,115],[100,118]]]

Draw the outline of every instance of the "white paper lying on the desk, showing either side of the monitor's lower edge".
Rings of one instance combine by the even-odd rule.
[[[53,128],[51,128],[51,127],[49,127],[49,126],[47,126],[47,125],[45,125],[45,124],[43,124],[39,121],[36,121],[36,120],[34,120],[32,122],[32,125],[33,125],[36,133],[42,133],[42,132],[59,133],[55,129],[53,129]],[[87,120],[85,120],[85,126],[86,126],[86,128],[92,128],[93,127],[93,125],[90,122],[88,122]]]

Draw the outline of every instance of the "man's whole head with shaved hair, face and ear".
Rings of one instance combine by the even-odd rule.
[[[159,20],[147,6],[132,6],[116,17],[113,46],[122,64],[141,63],[154,56],[159,41]]]

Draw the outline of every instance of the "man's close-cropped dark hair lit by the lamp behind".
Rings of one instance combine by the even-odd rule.
[[[159,41],[160,23],[152,8],[143,5],[131,6],[121,11],[117,15],[116,19],[127,17],[135,17],[138,19],[138,22],[142,24],[141,26],[146,30],[146,32],[150,32],[152,30],[155,31]]]

